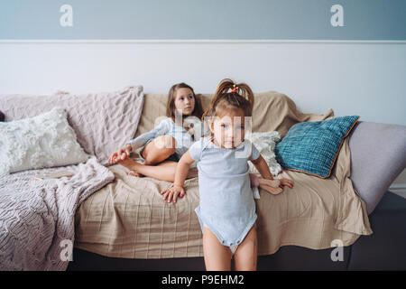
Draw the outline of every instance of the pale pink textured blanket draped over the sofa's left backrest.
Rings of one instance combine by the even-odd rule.
[[[0,95],[5,121],[34,117],[52,107],[66,109],[78,143],[86,153],[107,164],[110,154],[135,134],[143,109],[143,87],[83,95]]]

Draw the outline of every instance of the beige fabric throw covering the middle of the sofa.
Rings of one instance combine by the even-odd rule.
[[[203,108],[212,96],[198,95]],[[167,95],[145,95],[143,114],[135,135],[153,128],[156,117],[165,115]],[[277,130],[281,136],[303,121],[334,117],[301,113],[291,98],[275,92],[255,94],[253,131]],[[134,154],[134,160],[138,154]],[[201,231],[194,209],[198,206],[198,177],[191,170],[185,182],[186,197],[167,204],[160,191],[171,182],[126,174],[120,164],[109,166],[115,182],[84,201],[76,214],[75,247],[102,256],[120,258],[179,258],[203,256]],[[364,201],[359,198],[350,175],[350,151],[344,141],[330,178],[283,171],[277,178],[291,179],[293,189],[280,195],[260,190],[256,200],[259,255],[275,253],[281,246],[313,249],[334,246],[340,239],[349,246],[361,235],[372,233]]]

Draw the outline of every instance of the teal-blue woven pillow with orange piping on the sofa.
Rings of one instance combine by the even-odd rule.
[[[276,144],[276,160],[284,169],[326,179],[336,163],[341,144],[359,116],[335,117],[291,126]]]

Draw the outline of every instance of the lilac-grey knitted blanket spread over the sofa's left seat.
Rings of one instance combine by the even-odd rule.
[[[49,172],[72,177],[38,180]],[[66,270],[74,216],[83,200],[115,176],[96,157],[87,163],[15,172],[0,178],[0,270]]]

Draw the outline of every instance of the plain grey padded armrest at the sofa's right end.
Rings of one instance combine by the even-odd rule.
[[[369,215],[406,166],[406,126],[359,121],[349,137],[350,178]]]

